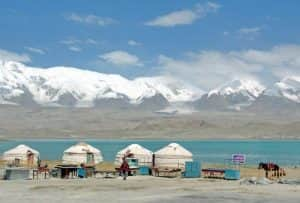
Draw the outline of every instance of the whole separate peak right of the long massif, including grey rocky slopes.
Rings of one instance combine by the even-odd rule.
[[[240,110],[249,106],[265,90],[265,87],[255,80],[233,80],[209,91],[196,102],[196,106],[206,109]]]

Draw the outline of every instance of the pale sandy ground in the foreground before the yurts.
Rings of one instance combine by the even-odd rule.
[[[300,186],[157,178],[0,181],[0,202],[299,202]]]

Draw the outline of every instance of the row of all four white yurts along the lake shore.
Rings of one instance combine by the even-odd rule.
[[[2,159],[6,161],[19,159],[21,162],[26,162],[28,151],[34,154],[34,161],[37,162],[40,156],[39,152],[26,145],[19,145],[4,152]],[[138,159],[139,165],[150,167],[184,168],[185,162],[193,160],[193,154],[177,143],[171,143],[154,153],[141,145],[131,144],[117,153],[115,164],[120,165],[123,157],[128,154]],[[88,155],[91,155],[94,164],[103,161],[103,156],[99,149],[80,142],[64,151],[62,162],[63,164],[88,163]]]

